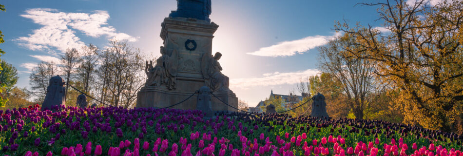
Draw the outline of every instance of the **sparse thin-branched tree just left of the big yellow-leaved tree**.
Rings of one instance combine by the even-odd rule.
[[[351,36],[345,35],[319,47],[320,69],[331,73],[341,81],[348,105],[355,117],[362,119],[369,101],[368,94],[374,89],[374,64],[367,59],[354,59],[349,55],[347,51],[359,49],[355,46],[348,46],[353,41]],[[346,48],[349,49],[346,50]]]

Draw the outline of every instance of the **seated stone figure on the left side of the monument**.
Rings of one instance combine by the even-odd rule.
[[[176,51],[174,50],[171,57],[167,55],[167,50],[161,46],[161,57],[156,59],[156,65],[153,62],[146,61],[145,73],[148,77],[145,86],[161,86],[165,84],[169,90],[175,90],[175,80],[177,76],[176,68]]]

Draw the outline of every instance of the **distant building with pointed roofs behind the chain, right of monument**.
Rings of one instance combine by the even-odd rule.
[[[281,95],[281,94],[273,94],[273,90],[270,91],[270,96],[269,98],[283,98],[283,107],[285,107],[285,110],[289,110],[293,107],[294,105],[297,104],[299,101],[302,101],[303,98],[305,97],[310,97],[310,94],[308,93],[302,93],[301,96],[289,94],[289,95]],[[250,112],[257,112],[257,113],[262,113],[262,106],[265,106],[265,101],[260,101],[257,106],[255,107],[250,107],[248,110]]]

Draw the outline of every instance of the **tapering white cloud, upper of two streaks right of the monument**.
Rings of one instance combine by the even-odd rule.
[[[258,51],[247,53],[249,55],[263,56],[263,57],[286,57],[302,54],[310,49],[324,45],[329,39],[333,39],[341,33],[336,33],[333,36],[309,36],[304,39],[297,39],[291,41],[283,41],[272,45],[270,47],[260,48]]]

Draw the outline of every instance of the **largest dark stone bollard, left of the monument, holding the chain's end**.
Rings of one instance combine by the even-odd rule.
[[[52,106],[65,104],[64,80],[58,75],[50,78],[45,100],[42,103],[42,110],[51,109]]]

